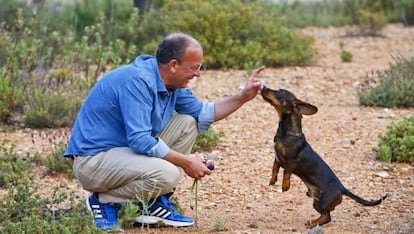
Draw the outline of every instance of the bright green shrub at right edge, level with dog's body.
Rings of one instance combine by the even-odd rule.
[[[414,162],[414,116],[404,117],[387,126],[380,134],[378,158],[386,162]]]

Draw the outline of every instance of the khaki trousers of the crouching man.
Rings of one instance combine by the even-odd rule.
[[[198,134],[190,115],[175,114],[159,137],[173,150],[189,155]],[[183,170],[162,158],[138,155],[128,147],[75,157],[75,176],[102,203],[146,200],[177,187]]]

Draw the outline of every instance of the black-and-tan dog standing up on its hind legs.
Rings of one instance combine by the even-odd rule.
[[[320,217],[305,225],[313,228],[331,221],[330,212],[342,202],[346,195],[365,206],[380,204],[387,195],[376,201],[367,201],[350,192],[341,183],[331,168],[312,149],[302,132],[302,115],[313,115],[318,108],[301,101],[288,90],[272,90],[266,86],[261,91],[263,99],[270,103],[279,115],[279,126],[274,137],[275,161],[270,185],[277,181],[280,167],[283,171],[282,191],[290,189],[290,177],[298,176],[308,188],[307,196],[313,198],[313,207]]]

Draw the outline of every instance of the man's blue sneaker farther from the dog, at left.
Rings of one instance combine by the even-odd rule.
[[[107,231],[122,231],[122,226],[117,218],[118,211],[121,209],[120,204],[102,204],[99,202],[98,194],[93,193],[86,199],[86,207],[92,213],[95,225],[98,228],[106,229]]]

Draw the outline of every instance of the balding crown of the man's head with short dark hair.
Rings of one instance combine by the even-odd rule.
[[[166,64],[172,59],[182,62],[188,48],[202,50],[201,44],[194,37],[182,32],[172,33],[158,45],[157,61],[161,64]]]

